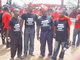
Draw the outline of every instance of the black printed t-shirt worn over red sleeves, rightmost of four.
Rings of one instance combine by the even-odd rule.
[[[56,27],[56,40],[66,42],[68,40],[68,21],[55,20],[54,25]]]

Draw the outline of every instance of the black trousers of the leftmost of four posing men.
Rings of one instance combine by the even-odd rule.
[[[22,36],[21,34],[10,34],[11,38],[11,58],[14,58],[17,52],[17,56],[20,57],[22,55]]]

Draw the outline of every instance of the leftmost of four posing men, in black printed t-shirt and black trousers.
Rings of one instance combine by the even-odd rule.
[[[17,55],[18,58],[22,59],[22,34],[21,34],[21,26],[20,26],[20,20],[19,20],[19,9],[15,8],[13,10],[14,17],[12,17],[11,21],[9,22],[9,25],[11,27],[10,29],[10,39],[11,39],[11,60],[14,60],[14,56]]]

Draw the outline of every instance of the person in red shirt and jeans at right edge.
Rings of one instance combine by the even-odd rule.
[[[80,9],[77,10],[78,15],[76,16],[76,23],[74,27],[74,32],[73,32],[73,46],[79,46],[80,45]],[[77,43],[76,42],[76,37],[78,35]]]

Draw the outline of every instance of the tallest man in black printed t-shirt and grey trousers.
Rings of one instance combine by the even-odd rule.
[[[28,12],[24,13],[22,18],[22,25],[25,21],[24,29],[24,56],[26,57],[29,51],[29,55],[34,56],[34,37],[35,37],[35,21],[37,21],[37,15],[32,13],[33,7],[28,6]],[[30,42],[30,43],[29,43]],[[29,48],[29,49],[28,49]]]

